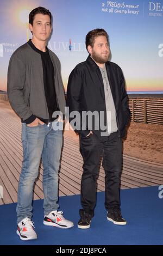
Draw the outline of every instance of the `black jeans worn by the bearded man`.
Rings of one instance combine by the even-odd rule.
[[[96,180],[101,155],[105,170],[105,208],[120,207],[120,174],[122,164],[122,141],[118,132],[98,138],[95,133],[89,137],[80,136],[80,153],[83,156],[83,175],[81,182],[81,204],[85,211],[96,205]]]

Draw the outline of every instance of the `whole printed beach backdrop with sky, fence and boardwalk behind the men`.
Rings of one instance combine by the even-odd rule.
[[[85,35],[95,28],[109,34],[111,62],[121,66],[129,95],[131,122],[123,141],[121,188],[163,184],[163,0],[0,0],[0,204],[17,202],[22,166],[21,121],[7,97],[11,54],[32,34],[28,15],[36,7],[53,15],[48,47],[60,59],[65,94],[68,76],[85,61]],[[80,193],[83,160],[79,138],[64,132],[59,196]],[[42,164],[34,199],[43,198]],[[100,167],[97,191],[104,191]]]

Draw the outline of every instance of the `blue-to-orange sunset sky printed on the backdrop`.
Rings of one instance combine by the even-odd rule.
[[[104,28],[109,34],[111,61],[121,66],[127,91],[162,93],[162,0],[0,0],[0,90],[7,90],[12,52],[31,38],[28,15],[38,6],[53,15],[48,47],[60,59],[65,90],[74,66],[87,58],[85,35]]]

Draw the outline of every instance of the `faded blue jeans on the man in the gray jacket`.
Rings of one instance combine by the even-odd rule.
[[[57,122],[56,122],[57,123]],[[45,215],[57,210],[58,169],[62,147],[62,123],[54,130],[52,123],[29,127],[22,123],[23,163],[17,192],[17,223],[23,218],[32,218],[33,186],[43,164],[43,208]]]

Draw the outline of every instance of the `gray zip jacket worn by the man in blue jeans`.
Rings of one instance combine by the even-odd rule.
[[[58,106],[65,111],[65,94],[58,57],[49,50],[54,66],[54,83]],[[28,43],[19,47],[11,56],[8,68],[8,97],[11,107],[23,120],[32,114],[49,119],[43,84],[41,56]]]

